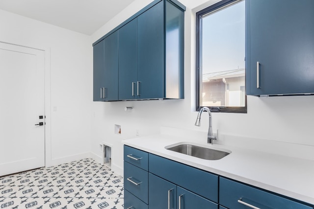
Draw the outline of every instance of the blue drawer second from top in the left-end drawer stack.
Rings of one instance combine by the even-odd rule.
[[[148,172],[124,162],[124,188],[148,204]]]

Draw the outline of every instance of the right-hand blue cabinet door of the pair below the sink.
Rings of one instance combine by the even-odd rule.
[[[177,186],[178,209],[218,209],[213,203],[197,194]]]

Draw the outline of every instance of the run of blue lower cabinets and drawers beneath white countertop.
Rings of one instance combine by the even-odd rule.
[[[132,147],[124,151],[125,209],[314,209]]]

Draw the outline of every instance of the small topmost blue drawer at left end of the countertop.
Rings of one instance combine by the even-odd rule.
[[[148,153],[124,145],[124,161],[148,171]]]

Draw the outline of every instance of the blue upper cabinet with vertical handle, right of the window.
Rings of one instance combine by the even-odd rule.
[[[246,0],[246,93],[314,93],[314,0]]]

